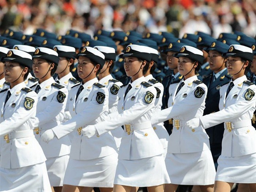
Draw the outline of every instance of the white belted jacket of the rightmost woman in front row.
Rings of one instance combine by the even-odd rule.
[[[231,81],[232,82],[232,81]],[[222,155],[237,157],[256,153],[256,130],[251,124],[256,105],[256,86],[242,76],[233,81],[234,87],[226,96],[229,84],[219,90],[219,112],[200,117],[205,129],[230,122],[231,129],[224,123]]]

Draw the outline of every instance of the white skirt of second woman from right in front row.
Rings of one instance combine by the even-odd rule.
[[[172,184],[214,184],[216,171],[210,150],[196,153],[167,153],[165,164]]]

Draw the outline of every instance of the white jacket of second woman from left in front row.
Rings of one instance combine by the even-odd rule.
[[[31,88],[35,90],[37,84]],[[64,117],[64,109],[67,103],[68,90],[57,84],[51,77],[40,84],[38,92],[37,115],[34,120],[34,135],[44,150],[46,158],[60,157],[70,152],[71,142],[68,136],[54,138],[49,143],[41,140],[41,134],[61,124]]]

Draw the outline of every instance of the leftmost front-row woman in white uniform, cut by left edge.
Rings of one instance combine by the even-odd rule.
[[[46,158],[31,121],[36,114],[37,94],[24,82],[32,68],[32,57],[10,49],[2,61],[10,87],[0,91],[0,191],[50,192]]]

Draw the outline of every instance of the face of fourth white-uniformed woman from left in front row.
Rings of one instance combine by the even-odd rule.
[[[124,70],[128,77],[134,76],[140,70],[142,62],[136,57],[124,58]],[[142,71],[142,70],[141,70]]]

